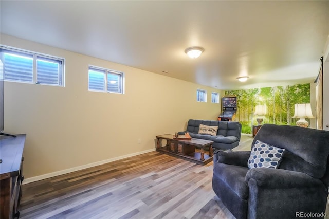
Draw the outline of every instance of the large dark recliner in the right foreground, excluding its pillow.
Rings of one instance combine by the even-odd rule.
[[[278,169],[247,166],[250,151],[214,153],[212,187],[236,218],[323,218],[329,184],[329,132],[264,124],[254,137],[284,148]],[[322,213],[322,214],[321,214]]]

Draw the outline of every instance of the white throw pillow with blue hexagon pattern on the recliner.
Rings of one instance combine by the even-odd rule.
[[[249,169],[257,167],[277,168],[284,149],[257,140],[248,159]]]

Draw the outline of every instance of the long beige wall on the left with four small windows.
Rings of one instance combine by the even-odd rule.
[[[0,43],[66,60],[65,87],[5,82],[5,132],[27,134],[25,178],[154,150],[156,135],[221,112],[211,103],[221,90],[8,35]],[[89,64],[124,72],[125,94],[88,92]],[[196,102],[197,88],[207,90],[207,103]]]

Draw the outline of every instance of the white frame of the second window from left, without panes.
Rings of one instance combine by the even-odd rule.
[[[97,89],[90,89],[89,83],[90,83],[90,77],[89,77],[89,70],[95,70],[95,71],[104,71],[104,89],[103,90],[97,90]],[[108,91],[108,74],[116,74],[121,76],[120,86],[121,86],[121,92],[113,92]],[[88,65],[88,91],[90,92],[102,92],[102,93],[111,93],[111,94],[124,94],[124,73],[122,71],[98,67],[95,65]]]

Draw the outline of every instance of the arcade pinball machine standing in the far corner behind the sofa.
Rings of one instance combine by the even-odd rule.
[[[218,116],[218,121],[235,121],[236,112],[236,97],[223,96],[222,97],[223,112]]]

